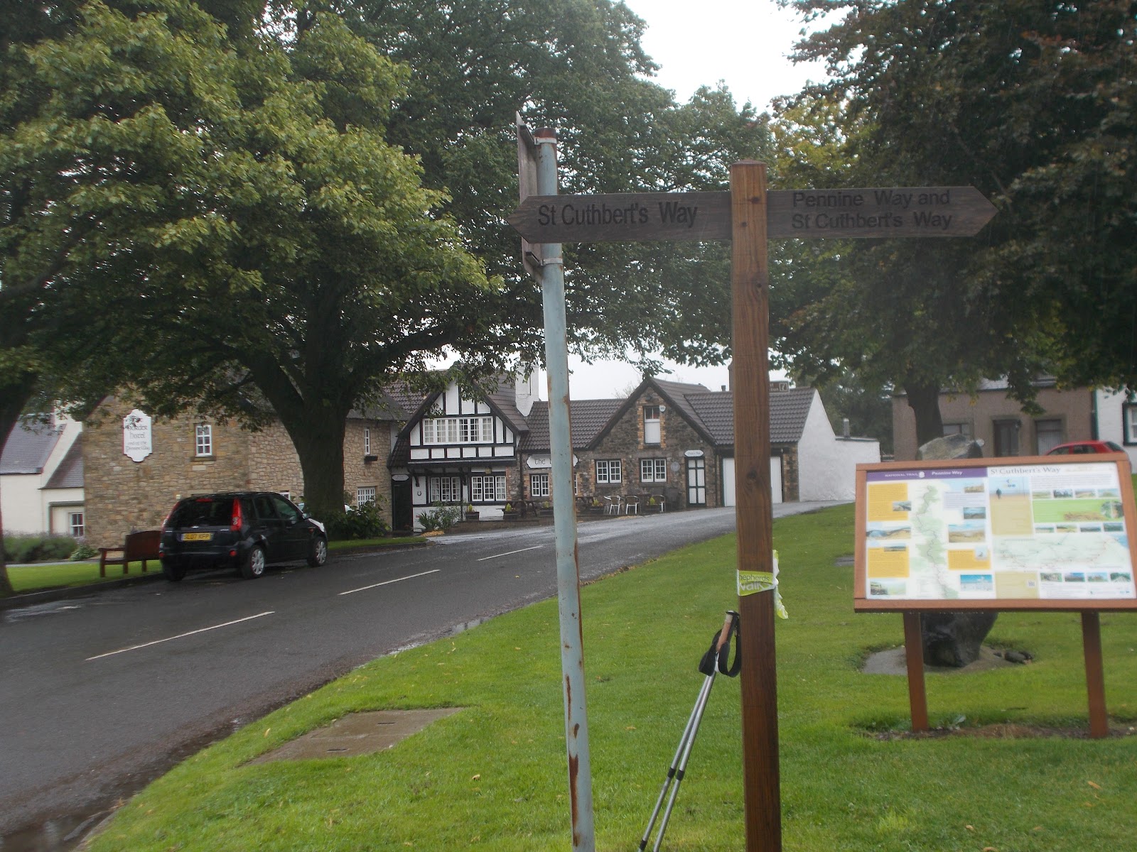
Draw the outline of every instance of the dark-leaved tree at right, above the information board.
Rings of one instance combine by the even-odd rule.
[[[1044,367],[1135,384],[1131,5],[788,5],[845,17],[798,47],[829,78],[782,118],[806,140],[824,122],[837,133],[805,149],[820,168],[789,158],[787,175],[971,184],[999,208],[969,241],[790,249],[781,332],[805,370],[904,389],[922,441],[940,432],[944,385],[1006,375],[1028,402]]]

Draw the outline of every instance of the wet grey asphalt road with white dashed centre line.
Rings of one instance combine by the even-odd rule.
[[[581,578],[733,527],[733,509],[581,523]],[[16,832],[77,825],[355,666],[555,596],[553,536],[447,535],[258,580],[191,575],[0,610],[0,850],[64,849]]]

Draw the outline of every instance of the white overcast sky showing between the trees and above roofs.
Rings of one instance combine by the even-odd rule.
[[[807,80],[820,80],[818,66],[794,65],[786,56],[798,39],[802,24],[774,0],[624,0],[647,23],[644,49],[661,66],[659,85],[690,100],[700,85],[725,81],[739,105],[749,101],[764,111],[771,99],[799,90]],[[717,391],[729,383],[727,367],[671,365],[663,376],[675,382],[704,384]],[[572,399],[620,395],[639,383],[640,374],[626,364],[584,365],[570,358]]]

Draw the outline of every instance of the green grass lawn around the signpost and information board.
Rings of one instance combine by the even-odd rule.
[[[1137,736],[888,734],[903,677],[863,675],[899,615],[855,615],[853,507],[774,525],[790,619],[778,624],[783,847],[808,852],[1132,849]],[[583,590],[597,849],[638,847],[703,676],[737,604],[732,536]],[[1104,615],[1113,725],[1137,726],[1137,613]],[[742,625],[742,629],[746,626]],[[991,642],[1029,666],[930,674],[933,726],[1084,729],[1076,613],[1003,613]],[[110,850],[493,850],[571,846],[556,601],[376,660],[250,724],[151,784],[91,845]],[[744,845],[738,680],[720,677],[664,846]],[[377,754],[250,766],[347,712],[463,710]]]

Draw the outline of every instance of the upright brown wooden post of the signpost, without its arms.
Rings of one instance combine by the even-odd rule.
[[[766,167],[753,161],[733,164],[730,191],[738,570],[772,573]],[[746,850],[780,852],[773,592],[741,595],[738,610],[741,616]]]

